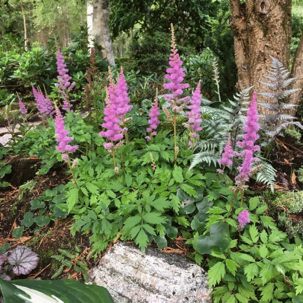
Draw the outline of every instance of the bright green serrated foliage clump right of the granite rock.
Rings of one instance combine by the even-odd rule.
[[[227,211],[216,203],[208,211],[212,214],[208,221],[213,221],[218,214],[225,217],[230,236],[224,251],[209,252],[208,280],[209,287],[214,287],[211,293],[213,301],[242,303],[300,300],[303,295],[299,278],[303,273],[302,242],[297,238],[296,244],[290,244],[287,234],[279,231],[270,221],[268,227],[265,227],[261,222],[266,207],[258,203],[257,197],[251,198],[249,205],[243,206],[249,209],[252,224],[246,225],[240,232],[235,228],[236,215],[226,218]],[[191,241],[193,245],[197,242],[195,238]]]

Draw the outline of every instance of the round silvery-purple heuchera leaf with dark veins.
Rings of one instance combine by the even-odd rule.
[[[28,247],[22,245],[11,251],[10,255],[7,257],[7,262],[11,265],[15,265],[13,268],[13,273],[15,275],[27,275],[37,267],[39,257]]]

